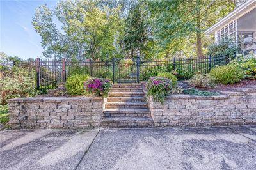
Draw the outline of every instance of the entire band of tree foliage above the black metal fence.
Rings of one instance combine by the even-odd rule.
[[[206,54],[203,31],[235,8],[227,0],[68,0],[36,8],[44,56],[109,60]]]

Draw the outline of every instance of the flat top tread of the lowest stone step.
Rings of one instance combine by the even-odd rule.
[[[116,116],[102,119],[102,123],[152,123],[147,116]]]

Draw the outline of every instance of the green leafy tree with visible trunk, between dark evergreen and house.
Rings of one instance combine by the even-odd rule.
[[[162,55],[196,47],[202,56],[202,32],[234,9],[233,1],[170,0],[147,1],[153,19],[154,36]]]

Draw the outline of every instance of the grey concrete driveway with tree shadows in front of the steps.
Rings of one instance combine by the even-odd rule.
[[[0,169],[256,169],[256,126],[5,130]]]

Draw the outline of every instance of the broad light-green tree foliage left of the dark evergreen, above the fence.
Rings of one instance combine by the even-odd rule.
[[[60,1],[53,12],[46,5],[37,8],[32,24],[42,36],[45,56],[109,59],[122,55],[119,11],[120,7],[99,6],[98,1]],[[54,17],[62,24],[61,30]]]

